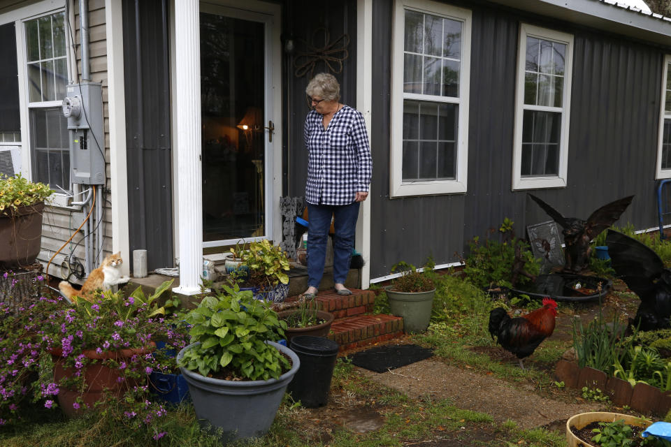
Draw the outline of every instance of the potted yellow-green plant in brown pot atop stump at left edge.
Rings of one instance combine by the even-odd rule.
[[[0,268],[22,268],[35,262],[42,241],[42,212],[54,191],[20,174],[0,174]]]

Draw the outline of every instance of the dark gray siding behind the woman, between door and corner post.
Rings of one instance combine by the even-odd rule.
[[[310,111],[305,101],[305,87],[308,86],[309,75],[296,76],[294,61],[308,51],[306,43],[313,47],[324,47],[324,34],[319,29],[329,30],[328,43],[333,44],[343,34],[349,36],[347,45],[347,59],[342,61],[342,73],[331,73],[340,82],[342,103],[356,106],[356,1],[309,1],[295,0],[284,4],[284,25],[282,36],[293,38],[295,50],[293,53],[284,53],[284,67],[282,71],[282,85],[286,86],[283,92],[283,103],[286,112],[284,118],[284,151],[282,164],[283,187],[282,196],[304,196],[305,178],[308,175],[308,152],[305,149],[303,124],[305,115]],[[342,42],[342,41],[340,41]],[[337,43],[329,47],[333,50],[341,48]],[[330,54],[333,57],[342,57],[341,52]],[[301,58],[299,64],[305,61]],[[332,66],[338,66],[331,61]],[[324,61],[317,61],[313,73],[327,71]]]

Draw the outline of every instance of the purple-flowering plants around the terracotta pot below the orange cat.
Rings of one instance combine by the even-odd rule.
[[[60,406],[68,416],[113,403],[120,422],[157,426],[166,411],[151,402],[147,376],[170,367],[170,360],[152,355],[152,338],[162,336],[175,349],[185,345],[167,330],[178,317],[164,318],[154,305],[170,282],[147,298],[138,291],[128,298],[97,291],[93,302],[72,306],[62,297],[43,297],[6,314],[0,321],[0,423],[21,418],[30,402]]]

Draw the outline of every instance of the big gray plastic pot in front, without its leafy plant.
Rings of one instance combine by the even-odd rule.
[[[222,441],[258,438],[264,436],[275,419],[284,392],[298,371],[300,360],[286,346],[266,342],[291,358],[291,370],[280,379],[257,381],[229,381],[205,377],[198,372],[180,368],[189,384],[196,417],[201,425],[222,430]],[[189,344],[177,355],[179,361]]]

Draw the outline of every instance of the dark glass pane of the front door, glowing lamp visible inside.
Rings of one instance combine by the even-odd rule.
[[[272,238],[266,15],[201,3],[203,247]]]

